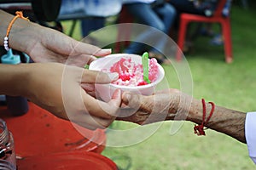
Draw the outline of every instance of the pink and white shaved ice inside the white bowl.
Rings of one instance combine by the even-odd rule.
[[[154,82],[159,71],[157,60],[154,58],[148,59],[148,66],[148,78],[150,82]],[[130,57],[119,59],[119,61],[113,63],[109,70],[104,69],[103,71],[119,73],[119,79],[112,82],[113,84],[133,87],[148,84],[143,80],[143,65],[131,62]]]

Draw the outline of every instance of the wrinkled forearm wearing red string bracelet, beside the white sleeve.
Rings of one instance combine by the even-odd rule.
[[[212,105],[207,103],[206,106],[207,120],[207,117],[209,116],[210,111],[212,109]],[[241,141],[242,143],[246,143],[245,119],[246,114],[243,112],[233,111],[216,105],[212,117],[210,118],[209,122],[205,124],[205,127],[211,128],[220,133],[225,133],[233,137],[234,139]],[[202,103],[200,100],[192,99],[191,106],[189,109],[189,115],[187,116],[186,120],[190,122],[195,122],[197,124],[201,124]]]

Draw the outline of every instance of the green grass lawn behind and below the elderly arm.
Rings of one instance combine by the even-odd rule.
[[[216,105],[238,111],[256,111],[255,16],[256,11],[253,9],[246,10],[238,6],[232,8],[232,64],[224,62],[224,48],[207,45],[209,38],[206,37],[199,37],[193,52],[186,54],[193,77],[193,96],[196,99],[204,98]],[[79,31],[75,35],[79,38]],[[101,35],[98,38],[108,37]],[[166,76],[170,77],[170,88],[179,88],[172,69],[165,69]],[[125,167],[127,161],[122,160],[122,156],[130,157],[131,170],[256,169],[248,157],[246,144],[210,129],[206,131],[207,136],[198,137],[193,132],[193,126],[193,123],[185,122],[177,133],[171,135],[172,122],[160,123],[160,128],[148,139],[125,147],[106,147],[102,154],[113,158],[120,167]],[[113,128],[130,127],[137,125],[113,122]],[[126,138],[129,139],[129,136]]]

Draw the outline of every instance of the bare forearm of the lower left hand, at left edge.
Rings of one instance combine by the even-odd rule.
[[[24,89],[26,88],[28,72],[26,64],[0,64],[0,94],[12,96],[26,95]]]

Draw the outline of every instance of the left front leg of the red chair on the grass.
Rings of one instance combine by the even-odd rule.
[[[179,31],[178,31],[178,37],[177,37],[177,54],[176,54],[176,60],[181,61],[183,57],[183,48],[186,38],[186,31],[187,31],[187,25],[188,20],[181,19]]]

